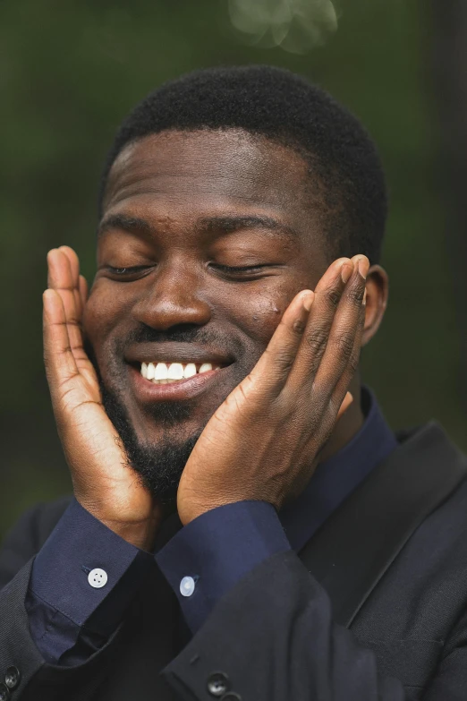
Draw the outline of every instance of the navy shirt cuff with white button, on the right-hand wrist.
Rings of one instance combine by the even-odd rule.
[[[250,570],[277,552],[290,550],[273,506],[238,501],[193,519],[157,553],[156,560],[195,633],[217,601]]]

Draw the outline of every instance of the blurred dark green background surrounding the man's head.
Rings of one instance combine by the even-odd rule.
[[[282,65],[367,126],[391,192],[383,262],[392,287],[364,377],[395,428],[437,417],[467,449],[462,218],[448,226],[459,203],[447,196],[455,148],[443,134],[450,113],[439,109],[447,83],[436,56],[437,32],[452,27],[428,0],[342,0],[337,14],[324,43],[301,37],[293,53],[252,45],[226,0],[0,4],[0,534],[33,502],[70,490],[42,366],[47,250],[71,245],[92,278],[98,179],[115,129],[149,90],[192,68]]]

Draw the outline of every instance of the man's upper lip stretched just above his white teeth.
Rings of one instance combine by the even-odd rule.
[[[194,343],[166,341],[162,344],[141,343],[125,354],[127,363],[213,363],[230,365],[232,357],[208,350]]]

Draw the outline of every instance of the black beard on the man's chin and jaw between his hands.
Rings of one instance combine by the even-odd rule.
[[[159,440],[157,446],[141,444],[122,401],[102,381],[100,390],[106,414],[122,440],[130,466],[153,497],[160,503],[173,505],[184,466],[203,429],[182,443]],[[155,406],[151,414],[168,427],[187,418],[190,411],[190,406],[166,402]]]

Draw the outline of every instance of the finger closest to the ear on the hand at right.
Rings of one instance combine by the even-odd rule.
[[[335,312],[327,346],[319,363],[312,387],[315,393],[332,397],[335,386],[350,381],[359,362],[361,329],[364,321],[363,297],[369,268],[365,256],[353,259],[354,269]]]

